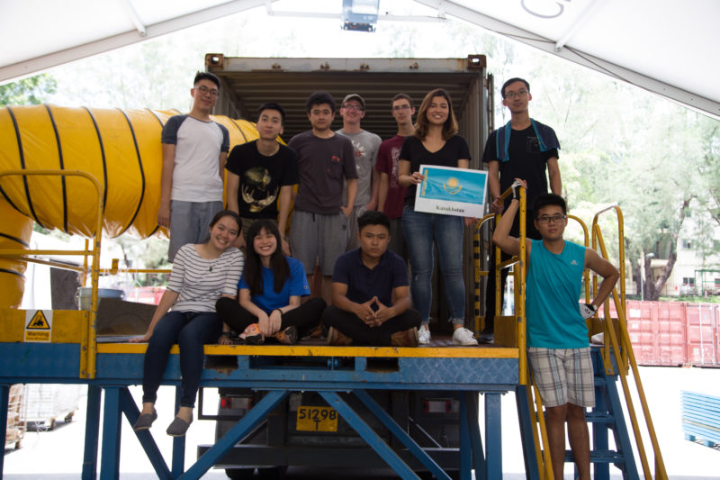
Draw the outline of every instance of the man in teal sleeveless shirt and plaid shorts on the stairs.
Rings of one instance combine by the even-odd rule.
[[[513,184],[513,199],[492,235],[492,241],[509,255],[520,251],[519,239],[509,236],[518,213],[515,194],[519,186],[526,183]],[[533,205],[535,226],[542,240],[526,239],[527,357],[545,403],[555,479],[563,478],[567,421],[580,478],[590,480],[590,434],[585,408],[595,405],[595,391],[585,319],[608,298],[620,274],[595,250],[563,239],[566,210],[563,197],[554,194],[538,195]],[[590,305],[578,303],[585,268],[603,277]]]

